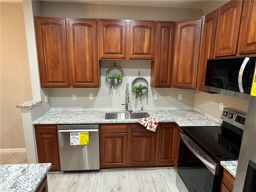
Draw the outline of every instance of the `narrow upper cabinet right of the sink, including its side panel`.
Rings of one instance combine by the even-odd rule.
[[[171,87],[173,22],[157,23],[156,60],[151,64],[151,85]]]

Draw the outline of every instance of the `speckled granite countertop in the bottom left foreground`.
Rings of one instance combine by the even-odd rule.
[[[51,163],[0,165],[0,191],[36,191],[51,165]]]

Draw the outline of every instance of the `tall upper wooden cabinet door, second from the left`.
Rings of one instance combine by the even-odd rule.
[[[98,87],[97,21],[68,19],[70,84],[73,87]]]

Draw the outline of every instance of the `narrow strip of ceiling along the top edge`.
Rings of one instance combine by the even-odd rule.
[[[209,5],[209,0],[42,0],[42,1],[126,5],[126,6],[127,5],[128,6],[148,6],[148,7],[198,8],[198,9],[204,9]]]

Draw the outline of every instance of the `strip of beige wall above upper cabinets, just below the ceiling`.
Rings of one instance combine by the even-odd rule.
[[[176,21],[202,16],[202,9],[42,2],[43,16]]]

